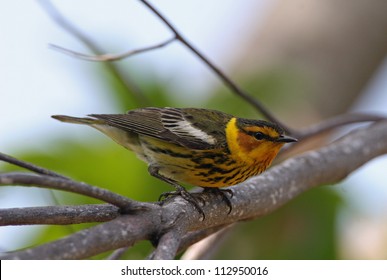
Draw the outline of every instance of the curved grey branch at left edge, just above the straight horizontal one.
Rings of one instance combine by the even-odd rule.
[[[98,188],[82,182],[51,176],[39,176],[27,173],[2,173],[0,174],[0,186],[34,186],[68,191],[93,197],[119,207],[122,211],[134,211],[143,209],[146,204],[136,202],[125,196],[113,193],[109,190]]]

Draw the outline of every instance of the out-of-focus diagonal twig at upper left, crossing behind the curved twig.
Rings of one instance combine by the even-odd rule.
[[[38,3],[58,26],[82,42],[88,49],[90,49],[91,52],[96,55],[104,53],[104,51],[93,42],[93,40],[88,38],[88,36],[86,36],[80,29],[68,21],[50,1],[38,0]],[[126,89],[126,92],[134,97],[138,106],[146,107],[152,104],[150,100],[141,92],[140,88],[133,83],[133,81],[131,81],[127,76],[124,78],[124,75],[116,65],[109,61],[105,61],[104,65],[116,81],[120,83],[124,89]]]

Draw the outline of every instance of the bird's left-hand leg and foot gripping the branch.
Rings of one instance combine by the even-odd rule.
[[[162,180],[162,181],[172,185],[175,188],[175,191],[163,192],[159,196],[159,201],[163,200],[163,199],[166,199],[169,196],[180,195],[182,198],[184,198],[186,201],[188,201],[189,203],[191,203],[195,207],[195,209],[200,213],[200,215],[203,216],[203,220],[205,219],[206,215],[204,214],[204,211],[201,208],[201,206],[199,205],[199,203],[197,202],[197,199],[191,193],[189,193],[183,186],[179,185],[179,183],[176,182],[175,180],[172,180],[170,178],[167,178],[167,177],[161,175],[159,173],[159,167],[158,166],[149,165],[148,172],[153,177],[155,177],[157,179],[160,179],[160,180]]]

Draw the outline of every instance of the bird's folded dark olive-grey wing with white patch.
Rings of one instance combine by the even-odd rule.
[[[202,109],[148,107],[131,110],[127,114],[90,116],[125,131],[154,137],[190,149],[206,150],[223,146],[225,137],[220,134],[224,133],[224,127],[221,128],[219,123],[211,124],[211,122],[218,122],[218,118],[198,117],[200,110]],[[202,120],[205,120],[206,125],[203,125]],[[207,129],[208,126],[214,129]]]

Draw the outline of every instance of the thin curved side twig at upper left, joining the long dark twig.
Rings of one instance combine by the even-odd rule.
[[[50,44],[49,46],[56,51],[73,56],[75,58],[84,59],[84,60],[88,60],[88,61],[106,62],[106,61],[116,61],[116,60],[120,60],[123,58],[127,58],[127,57],[132,56],[132,55],[144,53],[144,52],[155,50],[155,49],[160,49],[162,47],[165,47],[166,45],[169,45],[170,43],[172,43],[175,40],[176,40],[176,38],[173,37],[173,38],[170,38],[168,40],[165,40],[164,42],[156,44],[156,45],[143,47],[143,48],[139,48],[139,49],[135,49],[135,50],[130,50],[130,51],[127,51],[127,52],[124,52],[121,54],[101,54],[101,55],[83,54],[83,53],[72,51],[72,50],[69,50],[69,49],[63,48],[61,46],[54,45],[54,44]]]

